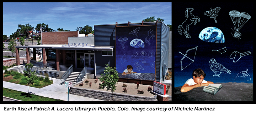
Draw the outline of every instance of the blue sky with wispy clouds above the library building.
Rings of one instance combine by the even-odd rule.
[[[171,9],[171,2],[3,2],[3,35],[28,23],[75,31],[85,25],[138,23],[155,16],[172,24]]]

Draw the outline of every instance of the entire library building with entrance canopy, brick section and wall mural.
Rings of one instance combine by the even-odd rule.
[[[120,82],[152,85],[161,83],[171,67],[169,60],[170,28],[162,22],[94,25],[94,34],[79,31],[42,32],[42,45],[16,46],[16,62],[20,65],[19,48],[26,49],[26,60],[34,66],[48,68],[53,77],[69,80],[68,72],[84,72],[95,79],[104,73],[106,64],[116,67]],[[30,54],[42,49],[42,55]],[[40,62],[36,62],[39,56]],[[134,74],[122,74],[132,68]],[[73,84],[82,78],[71,80]]]

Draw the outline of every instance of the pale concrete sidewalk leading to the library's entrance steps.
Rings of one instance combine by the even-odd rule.
[[[65,84],[59,85],[60,82],[61,82],[60,79],[53,78],[52,85],[48,85],[41,89],[30,87],[30,92],[38,96],[68,101],[68,93],[67,93],[68,88],[65,87]],[[3,81],[3,87],[16,90],[16,91],[28,92],[28,86],[26,85],[20,85],[20,84]],[[69,101],[102,101],[102,100],[69,94]]]

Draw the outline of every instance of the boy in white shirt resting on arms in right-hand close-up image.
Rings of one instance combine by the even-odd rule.
[[[202,69],[195,69],[193,71],[193,79],[190,78],[186,81],[186,83],[181,87],[181,92],[187,92],[195,87],[202,87],[208,86],[209,84],[213,84],[213,82],[211,81],[204,80],[205,77],[206,73],[204,73]]]

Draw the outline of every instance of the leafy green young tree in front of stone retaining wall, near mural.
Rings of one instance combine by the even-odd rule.
[[[102,84],[99,84],[102,88],[106,88],[107,90],[111,90],[112,99],[114,101],[113,93],[116,90],[116,84],[118,81],[118,72],[116,71],[116,67],[110,67],[108,64],[104,69],[104,73],[101,74],[100,81]]]

